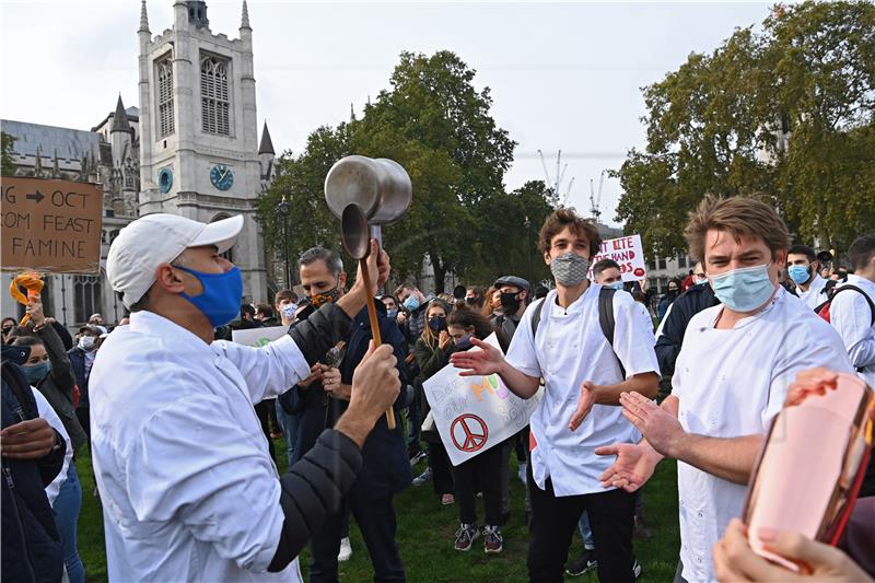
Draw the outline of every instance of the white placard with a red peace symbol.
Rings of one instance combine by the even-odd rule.
[[[501,349],[494,334],[486,342]],[[544,397],[541,387],[530,399],[521,399],[497,374],[459,376],[458,373],[458,369],[447,364],[422,384],[438,433],[454,466],[515,435],[528,424]]]

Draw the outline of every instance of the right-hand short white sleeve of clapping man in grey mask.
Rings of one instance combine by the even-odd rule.
[[[644,327],[634,300],[626,292],[614,294],[614,352],[626,369],[626,377],[651,372],[660,374],[653,334]]]

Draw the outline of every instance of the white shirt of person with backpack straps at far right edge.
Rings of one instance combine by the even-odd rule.
[[[847,283],[863,290],[875,303],[875,283],[849,275]],[[872,325],[872,308],[863,295],[855,291],[844,291],[829,305],[829,319],[841,336],[851,364],[863,369],[858,374],[875,389],[875,326]]]

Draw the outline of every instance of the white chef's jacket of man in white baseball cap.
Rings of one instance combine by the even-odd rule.
[[[109,335],[89,382],[109,581],[301,581],[266,572],[283,514],[253,404],[308,373],[289,336],[208,346],[151,312]]]

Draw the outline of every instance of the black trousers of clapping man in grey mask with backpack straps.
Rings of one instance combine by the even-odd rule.
[[[528,545],[528,579],[533,583],[559,583],[568,560],[571,537],[585,510],[595,538],[598,581],[633,583],[632,527],[634,494],[608,490],[582,495],[557,497],[550,479],[538,488],[528,468],[532,494],[532,538]]]

